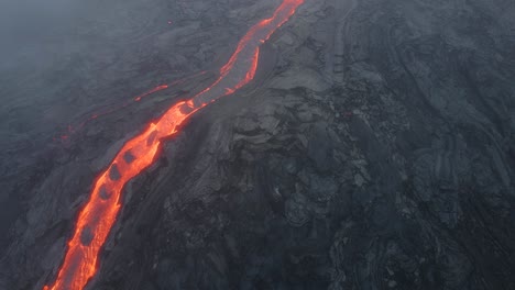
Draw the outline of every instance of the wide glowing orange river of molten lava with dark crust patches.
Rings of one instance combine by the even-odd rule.
[[[57,279],[44,290],[79,290],[96,274],[98,255],[117,219],[121,193],[125,183],[149,167],[160,152],[163,138],[177,133],[178,126],[193,113],[233,93],[251,81],[258,68],[260,45],[283,25],[304,0],[284,0],[270,19],[253,25],[229,62],[220,69],[219,78],[188,101],[169,108],[160,119],[128,141],[92,187],[88,202],[77,217],[74,235]]]

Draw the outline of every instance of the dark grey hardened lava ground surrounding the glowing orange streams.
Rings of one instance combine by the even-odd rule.
[[[278,2],[91,4],[47,67],[2,67],[0,289],[52,280],[95,174],[215,75],[52,143],[59,125],[216,70]],[[90,289],[515,289],[514,14],[501,0],[306,0],[256,80],[128,186]]]

